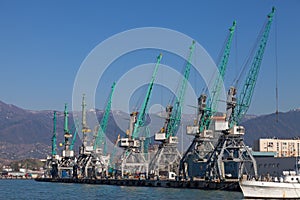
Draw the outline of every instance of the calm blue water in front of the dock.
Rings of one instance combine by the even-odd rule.
[[[240,192],[0,180],[0,199],[243,199]]]

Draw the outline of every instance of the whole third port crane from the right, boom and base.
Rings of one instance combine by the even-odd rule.
[[[166,119],[164,127],[155,134],[155,140],[161,142],[154,157],[149,164],[149,175],[151,177],[159,177],[165,175],[166,172],[178,174],[178,165],[181,159],[180,152],[178,151],[177,144],[178,138],[176,133],[180,127],[182,106],[184,102],[186,87],[190,75],[191,59],[195,50],[195,41],[189,49],[189,55],[185,66],[180,89],[174,103],[174,106],[167,105]]]

